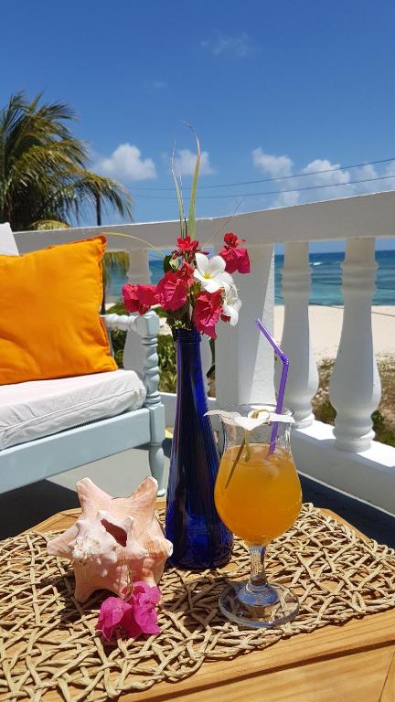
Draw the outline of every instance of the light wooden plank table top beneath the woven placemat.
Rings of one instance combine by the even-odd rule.
[[[336,514],[323,512],[347,524]],[[64,529],[79,514],[79,510],[60,512],[35,528]],[[48,702],[60,699],[56,693],[46,695]],[[120,700],[395,702],[395,609],[300,633],[232,661],[206,663],[186,680],[159,683]]]

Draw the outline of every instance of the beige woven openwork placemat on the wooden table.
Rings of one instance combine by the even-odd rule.
[[[51,534],[9,538],[0,551],[0,698],[39,702],[49,691],[72,700],[104,700],[192,675],[204,661],[265,648],[284,636],[395,606],[395,551],[365,541],[313,505],[275,541],[267,570],[299,595],[300,613],[277,629],[240,629],[219,613],[228,575],[249,573],[236,539],[227,574],[165,570],[160,583],[161,633],[104,645],[95,633],[107,592],[83,605],[73,599],[69,564],[48,556]]]

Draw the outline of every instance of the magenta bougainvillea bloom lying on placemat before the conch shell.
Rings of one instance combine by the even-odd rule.
[[[133,639],[141,633],[160,633],[155,610],[159,600],[160,590],[139,580],[133,584],[133,592],[127,601],[121,597],[108,597],[102,602],[96,629],[106,641],[111,641],[117,630]]]

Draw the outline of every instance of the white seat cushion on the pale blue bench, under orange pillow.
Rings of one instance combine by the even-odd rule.
[[[139,410],[146,396],[133,370],[0,386],[0,450]]]

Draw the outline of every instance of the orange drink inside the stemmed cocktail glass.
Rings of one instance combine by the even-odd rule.
[[[219,516],[249,544],[267,545],[281,536],[294,524],[302,504],[292,453],[276,446],[270,454],[269,448],[267,443],[251,443],[240,452],[240,446],[230,446],[219,464]]]

